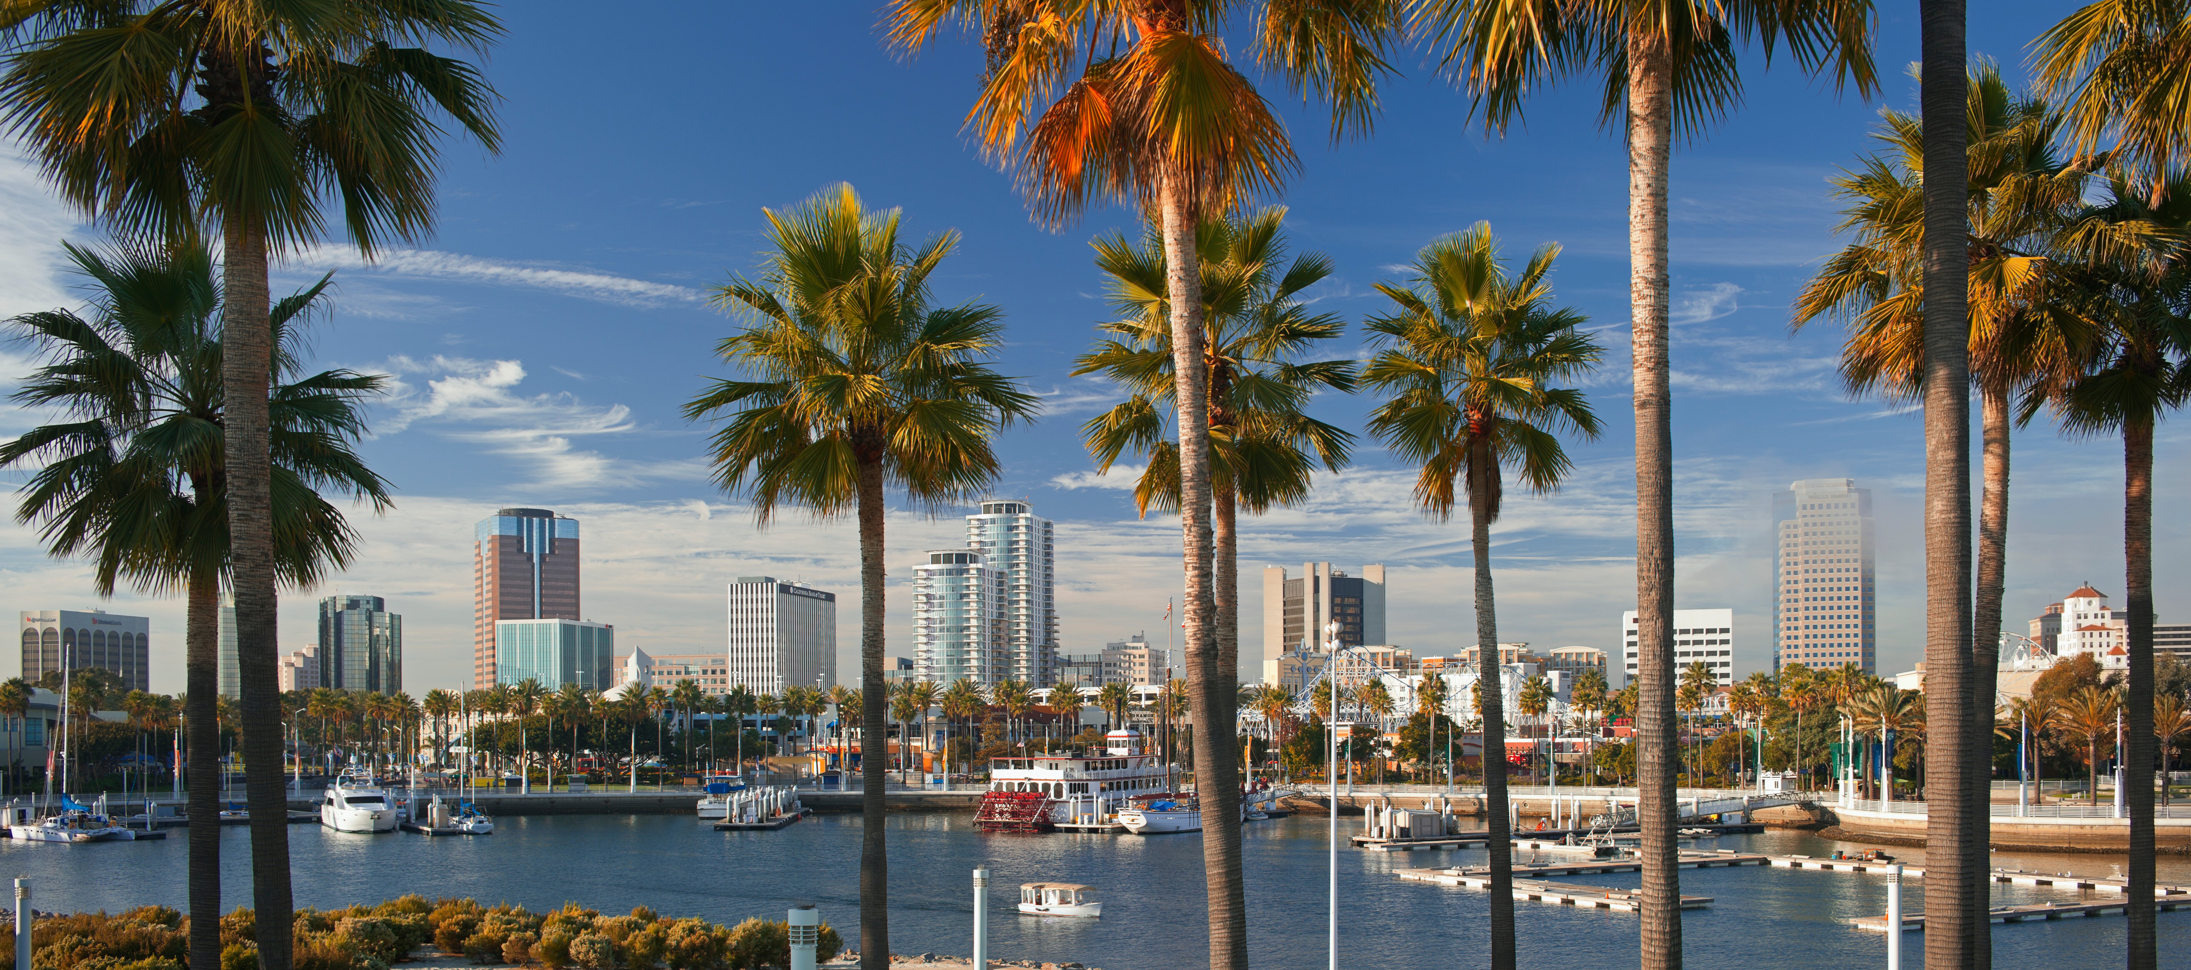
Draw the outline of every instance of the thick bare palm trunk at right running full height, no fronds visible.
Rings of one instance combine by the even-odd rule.
[[[1970,591],[1970,254],[1965,158],[1963,0],[1924,0],[1924,458],[1926,458],[1926,720],[1965,725],[1972,698]],[[1926,764],[1926,935],[1924,963],[1970,970],[1976,893],[1970,858],[1985,845],[1968,795],[1970,727],[1939,731]],[[1939,863],[1932,863],[1939,858]],[[1939,865],[1935,869],[1932,865]]]

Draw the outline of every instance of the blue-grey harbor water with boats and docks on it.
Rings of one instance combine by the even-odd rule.
[[[1082,961],[1104,970],[1205,966],[1203,854],[1198,834],[977,834],[971,815],[892,815],[892,948],[966,955],[975,865],[993,869],[990,955]],[[1361,819],[1352,819],[1356,825]],[[1347,821],[1341,821],[1347,832]],[[714,832],[690,817],[504,817],[493,836],[337,834],[289,825],[296,902],[346,907],[401,893],[473,896],[532,909],[576,900],[603,911],[638,904],[673,915],[736,922],[782,920],[813,902],[824,920],[857,937],[859,819],[817,817],[782,832]],[[1742,852],[1823,856],[1832,843],[1805,832],[1766,832],[1702,843]],[[248,904],[250,843],[221,832],[226,907]],[[1258,970],[1326,966],[1326,823],[1317,817],[1253,823],[1244,841],[1249,946]],[[1900,850],[1897,850],[1900,852]],[[1481,966],[1488,952],[1485,896],[1402,882],[1393,869],[1481,863],[1464,852],[1339,852],[1341,968],[1446,970]],[[1906,858],[1917,863],[1917,858]],[[1996,865],[2106,876],[2121,856],[1996,856]],[[118,911],[147,902],[184,907],[184,839],[158,843],[50,845],[0,841],[0,874],[31,876],[37,909]],[[2165,858],[2163,882],[2191,882],[2191,863]],[[1089,882],[1102,920],[1021,917],[1019,882]],[[1575,876],[1564,882],[1634,887],[1637,874]],[[1886,907],[1882,876],[1766,867],[1683,869],[1687,896],[1711,896],[1685,915],[1685,966],[1698,970],[1862,968],[1884,963],[1880,933],[1847,917]],[[1996,904],[2075,900],[2075,891],[1994,887]],[[1924,880],[1904,885],[1906,911],[1924,909]],[[1525,968],[1632,966],[1637,917],[1595,909],[1514,904]],[[2114,963],[2125,920],[2057,920],[1994,926],[1994,966],[2060,968]],[[1908,948],[1919,946],[1911,935]],[[2160,952],[2191,952],[2191,913],[2160,913]],[[2163,959],[2167,963],[2169,957]],[[2191,959],[2187,959],[2191,963]],[[2184,966],[2184,963],[2178,963]]]

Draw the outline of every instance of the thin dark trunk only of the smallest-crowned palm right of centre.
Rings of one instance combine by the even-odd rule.
[[[1505,795],[1505,696],[1499,690],[1499,609],[1492,598],[1490,440],[1470,447],[1468,543],[1477,563],[1477,716],[1483,718],[1483,847],[1490,852],[1492,970],[1514,970],[1514,836]]]

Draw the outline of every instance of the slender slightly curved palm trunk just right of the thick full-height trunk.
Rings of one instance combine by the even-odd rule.
[[[1992,900],[1992,823],[1994,823],[1994,688],[2000,677],[2000,589],[2007,582],[2009,561],[2009,394],[2005,388],[1983,388],[1978,392],[1978,451],[1983,453],[1983,490],[1978,493],[1978,571],[1970,637],[1970,714],[1963,740],[1970,769],[1963,790],[1972,825],[1978,836],[1970,841],[1963,856],[1963,878],[1970,893]],[[1994,924],[1970,920],[1972,970],[1994,963]]]

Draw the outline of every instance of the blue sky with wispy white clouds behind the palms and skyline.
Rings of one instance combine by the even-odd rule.
[[[1970,46],[2022,77],[2024,44],[2060,4],[1974,9]],[[296,254],[296,287],[335,269],[337,313],[318,331],[324,363],[394,377],[375,405],[366,455],[397,484],[397,508],[359,512],[362,561],[326,589],[291,593],[283,644],[313,637],[316,596],[386,596],[405,615],[405,688],[456,685],[471,650],[471,523],[500,506],[583,519],[585,613],[649,653],[716,648],[723,582],[804,578],[846,596],[844,668],[857,648],[857,550],[848,523],[798,517],[760,532],[708,484],[703,427],[677,416],[736,322],[706,291],[749,272],[760,208],[852,182],[870,206],[901,206],[914,234],[955,228],[938,298],[1008,313],[999,368],[1041,392],[1047,414],[1001,442],[997,495],[1028,497],[1058,521],[1060,633],[1067,650],[1148,631],[1179,585],[1177,523],[1137,521],[1124,482],[1096,480],[1076,425],[1115,401],[1071,379],[1071,357],[1104,320],[1089,239],[1133,230],[1120,208],[1047,232],[1010,180],[960,129],[979,53],[942,44],[885,53],[870,4],[651,4],[600,18],[578,4],[502,7],[506,42],[486,66],[504,94],[500,158],[471,145],[445,155],[440,230],[416,250],[364,265],[340,241]],[[1884,90],[1871,103],[1751,53],[1746,103],[1674,155],[1674,442],[1678,604],[1737,611],[1737,674],[1768,663],[1766,504],[1797,477],[1873,488],[1880,552],[1880,668],[1922,655],[1922,436],[1915,414],[1851,401],[1834,377],[1838,333],[1788,331],[1788,300],[1838,243],[1827,177],[1869,151],[1880,105],[1913,107],[1915,4],[1880,15]],[[1558,495],[1510,501],[1496,530],[1501,639],[1615,644],[1632,604],[1632,420],[1626,366],[1626,166],[1597,125],[1593,85],[1549,90],[1523,125],[1485,138],[1468,103],[1409,50],[1367,138],[1330,145],[1321,112],[1260,79],[1286,114],[1301,171],[1284,197],[1297,250],[1337,274],[1319,309],[1361,320],[1372,291],[1437,234],[1488,219],[1507,252],[1564,247],[1558,300],[1608,344],[1588,381],[1608,434],[1575,444]],[[39,186],[20,153],[0,158],[0,313],[72,304],[61,239],[99,239]],[[1350,333],[1334,355],[1361,353]],[[0,379],[28,368],[22,346]],[[1361,427],[1367,399],[1328,394],[1328,420]],[[39,414],[0,414],[15,434]],[[2182,427],[2160,436],[2163,510],[2180,508]],[[2121,449],[2064,442],[2033,425],[2016,442],[2007,626],[2081,580],[2121,587]],[[9,473],[4,482],[20,482]],[[1260,567],[1332,561],[1391,567],[1389,639],[1418,655],[1470,642],[1461,523],[1409,506],[1411,473],[1374,442],[1295,510],[1242,521],[1242,642],[1258,644]],[[920,550],[957,545],[955,517],[890,523],[890,653],[909,655],[903,580]],[[2184,521],[2158,523],[2158,611],[2182,620]],[[42,556],[28,528],[0,526],[0,607],[92,604],[85,569]],[[182,685],[182,604],[118,596],[112,611],[156,620],[153,683]],[[2184,607],[2191,609],[2191,607]],[[1255,670],[1249,670],[1251,674]]]

